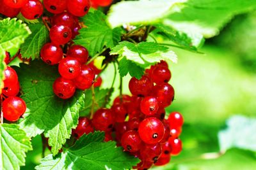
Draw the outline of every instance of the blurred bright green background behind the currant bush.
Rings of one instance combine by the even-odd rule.
[[[256,118],[255,28],[256,13],[239,15],[219,36],[205,41],[200,49],[204,54],[173,48],[179,58],[178,64],[170,64],[175,101],[166,112],[180,111],[184,115],[185,124],[180,136],[183,151],[172,157],[167,166],[154,169],[256,169],[256,154],[250,150],[232,148],[224,155],[217,154],[220,152],[218,132],[225,129],[229,117]],[[105,73],[111,69],[113,66]],[[102,78],[105,80],[103,87],[109,87],[111,75],[103,73]],[[124,78],[126,93],[129,92],[128,81],[129,76]],[[117,76],[116,87],[118,83]],[[256,129],[252,131],[256,132]],[[31,169],[39,163],[42,154],[40,136],[32,142],[34,151],[28,153],[26,167],[21,169]],[[212,153],[210,156],[214,159],[205,159],[202,157],[204,153]]]

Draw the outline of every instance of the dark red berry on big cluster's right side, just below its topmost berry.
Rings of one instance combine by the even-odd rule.
[[[174,89],[168,83],[160,83],[154,86],[152,96],[156,97],[159,107],[169,106],[174,99]]]

